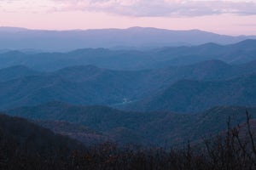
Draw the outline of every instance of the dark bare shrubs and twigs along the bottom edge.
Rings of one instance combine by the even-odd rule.
[[[11,170],[253,170],[256,169],[254,125],[249,114],[246,115],[247,122],[240,126],[230,127],[228,121],[226,132],[204,139],[201,144],[186,144],[183,149],[171,150],[118,148],[113,143],[86,149],[64,147],[65,144],[59,147],[57,144],[50,150],[32,150],[32,143],[27,145],[29,139],[20,144],[20,140],[7,137],[1,129],[0,167]],[[37,149],[38,145],[34,144],[34,147]]]

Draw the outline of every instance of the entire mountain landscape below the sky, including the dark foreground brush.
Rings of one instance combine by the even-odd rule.
[[[255,164],[255,36],[0,27],[0,37],[0,169]]]

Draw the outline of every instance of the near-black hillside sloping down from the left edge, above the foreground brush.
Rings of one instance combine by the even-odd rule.
[[[1,140],[16,144],[17,150],[26,150],[32,155],[50,156],[63,151],[59,154],[67,156],[72,150],[83,148],[78,141],[55,134],[23,118],[0,114],[0,122]]]

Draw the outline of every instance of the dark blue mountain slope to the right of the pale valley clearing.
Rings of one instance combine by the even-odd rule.
[[[126,106],[133,111],[203,111],[217,105],[256,105],[256,75],[224,81],[175,82],[169,88]]]

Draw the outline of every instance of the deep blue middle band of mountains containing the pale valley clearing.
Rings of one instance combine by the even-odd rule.
[[[0,70],[0,108],[63,101],[108,105],[127,111],[204,111],[217,105],[255,105],[255,61],[116,71],[93,65],[34,71],[16,65]]]

